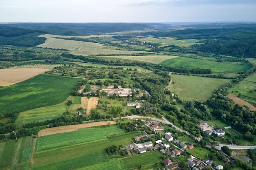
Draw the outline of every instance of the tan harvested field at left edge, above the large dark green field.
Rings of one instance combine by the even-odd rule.
[[[0,86],[10,86],[49,70],[45,68],[0,69]]]

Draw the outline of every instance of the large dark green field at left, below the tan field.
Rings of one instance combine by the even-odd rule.
[[[0,114],[22,112],[59,104],[67,99],[80,79],[37,75],[18,84],[0,88]]]

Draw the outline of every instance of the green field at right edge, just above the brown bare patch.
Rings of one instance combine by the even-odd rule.
[[[256,102],[256,73],[249,75],[243,81],[235,84],[229,89],[229,93],[232,93],[238,96],[239,93],[242,93],[240,98],[247,101]],[[237,92],[236,92],[237,91]],[[250,92],[251,91],[251,92]]]

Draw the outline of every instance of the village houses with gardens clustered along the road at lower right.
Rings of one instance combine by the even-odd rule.
[[[155,121],[145,121],[145,125],[150,127],[155,134],[157,134],[160,131],[164,131],[164,127],[158,124],[158,122]],[[137,128],[137,124],[134,125],[134,128]],[[225,131],[222,129],[213,130],[213,126],[207,125],[207,121],[200,121],[198,122],[198,126],[202,128],[205,134],[212,135],[212,133],[216,134],[218,137],[222,137],[225,135]],[[227,127],[229,128],[229,127]],[[152,138],[155,136],[155,134],[148,134],[145,131],[142,131],[143,135],[139,135],[134,137],[134,142],[132,144],[126,146],[125,148],[122,148],[122,150],[129,150],[132,155],[134,155],[134,152],[137,152],[138,154],[143,154],[145,152],[152,152],[152,151],[158,151],[162,153],[163,155],[168,155],[166,159],[163,159],[163,163],[165,165],[164,170],[171,170],[175,168],[180,168],[180,162],[176,159],[173,159],[175,157],[184,157],[182,153],[186,152],[186,150],[191,150],[195,148],[192,142],[180,142],[179,139],[174,139],[171,132],[164,132],[164,137],[161,139],[158,139],[153,143],[152,141],[146,141],[141,143],[141,138]],[[211,147],[207,145],[207,147]],[[174,148],[174,149],[173,149]],[[222,154],[227,156],[224,152],[220,151]],[[229,160],[228,156],[226,158],[227,162],[230,164],[234,164],[234,161]],[[191,168],[191,170],[222,170],[224,167],[222,165],[215,165],[213,160],[200,160],[193,155],[190,155],[190,158],[187,159],[186,165]],[[159,168],[159,170],[161,170]]]

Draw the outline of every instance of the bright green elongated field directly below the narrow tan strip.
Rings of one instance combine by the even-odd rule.
[[[108,135],[123,133],[124,130],[119,126],[110,126],[107,128],[84,128],[82,130],[66,133],[58,133],[54,135],[47,135],[38,137],[36,142],[37,150],[46,150],[50,148],[58,148],[61,146],[68,146],[72,143],[75,144],[106,139]]]

